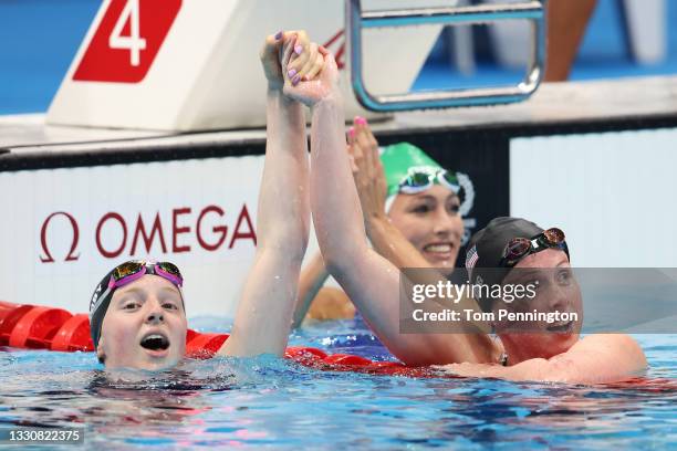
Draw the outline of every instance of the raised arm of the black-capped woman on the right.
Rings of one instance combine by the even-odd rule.
[[[312,107],[311,204],[329,272],[376,335],[403,361],[410,365],[487,361],[465,342],[450,346],[449,337],[454,335],[399,333],[399,272],[366,242],[360,199],[345,151],[343,102],[336,80],[335,62],[327,54],[317,81],[302,83],[290,91],[290,95]]]

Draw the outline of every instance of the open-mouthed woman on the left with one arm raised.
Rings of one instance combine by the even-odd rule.
[[[268,80],[265,162],[258,206],[258,247],[230,338],[221,356],[282,355],[310,228],[304,106],[284,95],[323,66],[303,32],[270,35],[260,53]],[[311,83],[311,82],[309,82]],[[158,370],[186,352],[184,277],[169,262],[131,261],[97,285],[90,304],[92,339],[106,368]]]

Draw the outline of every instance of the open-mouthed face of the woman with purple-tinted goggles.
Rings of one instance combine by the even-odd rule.
[[[187,328],[176,286],[144,275],[113,294],[96,353],[105,357],[107,368],[171,367],[186,353]]]

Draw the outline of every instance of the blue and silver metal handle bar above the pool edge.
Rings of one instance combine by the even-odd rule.
[[[543,77],[545,61],[545,2],[482,4],[460,8],[426,8],[362,12],[361,0],[345,1],[346,44],[351,55],[351,81],[357,101],[374,112],[448,108],[521,102],[535,92]],[[498,20],[527,19],[531,23],[532,45],[528,72],[518,85],[445,90],[395,95],[373,95],[362,75],[362,30],[420,24],[483,23]]]

